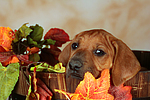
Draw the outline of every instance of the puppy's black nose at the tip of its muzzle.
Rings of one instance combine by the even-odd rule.
[[[69,67],[72,70],[79,70],[82,66],[83,64],[79,60],[71,60],[69,62]]]

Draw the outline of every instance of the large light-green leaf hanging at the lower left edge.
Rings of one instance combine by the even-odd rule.
[[[19,77],[19,63],[3,67],[0,63],[0,100],[6,100],[14,89]]]

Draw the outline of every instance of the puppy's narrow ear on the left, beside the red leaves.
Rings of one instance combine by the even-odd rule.
[[[63,51],[60,53],[58,60],[63,64],[63,66],[66,67],[69,57],[70,57],[70,52],[71,52],[71,43],[69,43]]]

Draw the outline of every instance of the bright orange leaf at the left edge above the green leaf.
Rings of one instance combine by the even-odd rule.
[[[12,40],[14,39],[15,34],[9,27],[0,27],[0,46],[4,48],[4,50],[9,51],[12,46]],[[2,49],[0,49],[3,52]]]

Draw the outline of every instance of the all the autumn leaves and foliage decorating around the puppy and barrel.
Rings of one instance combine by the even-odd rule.
[[[36,77],[37,71],[64,73],[65,68],[58,62],[62,44],[70,41],[68,34],[58,28],[51,28],[43,38],[44,29],[36,24],[23,24],[18,30],[0,27],[0,100],[6,100],[14,89],[19,70],[33,65],[29,75],[29,89],[26,100],[51,100],[53,93]],[[42,39],[43,38],[43,39]],[[54,89],[68,100],[132,100],[130,86],[111,86],[109,69],[102,71],[95,79],[87,72],[75,93]],[[7,87],[7,88],[6,88]]]

